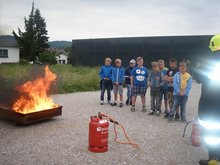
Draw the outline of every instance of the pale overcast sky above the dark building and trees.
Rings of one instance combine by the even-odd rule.
[[[33,0],[0,0],[0,34],[24,29]],[[49,40],[220,33],[220,0],[35,0]]]

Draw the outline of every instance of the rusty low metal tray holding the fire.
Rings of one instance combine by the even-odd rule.
[[[4,120],[10,120],[16,125],[27,125],[61,115],[62,106],[27,114],[18,113],[11,109],[0,107],[0,118]]]

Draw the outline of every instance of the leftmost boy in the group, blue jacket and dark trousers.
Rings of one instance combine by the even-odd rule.
[[[99,76],[101,78],[100,88],[101,88],[101,96],[100,96],[100,105],[104,104],[104,94],[105,89],[107,89],[107,100],[110,104],[111,101],[111,89],[112,89],[112,67],[111,67],[111,59],[105,59],[105,65],[100,68]]]

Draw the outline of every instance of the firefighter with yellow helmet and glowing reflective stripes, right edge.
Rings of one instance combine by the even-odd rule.
[[[196,81],[202,84],[198,121],[209,153],[209,160],[201,160],[200,164],[220,161],[220,34],[212,37],[209,48],[212,54],[195,71]]]

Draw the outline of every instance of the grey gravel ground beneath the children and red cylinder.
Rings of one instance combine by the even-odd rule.
[[[200,85],[193,84],[186,110],[188,120],[196,116],[200,88]],[[168,123],[163,115],[156,117],[143,113],[140,98],[137,101],[139,110],[131,112],[130,106],[99,105],[99,94],[54,95],[55,102],[63,105],[63,115],[49,121],[15,126],[0,120],[0,164],[195,165],[198,160],[207,158],[205,147],[191,145],[191,126],[183,138],[184,123]],[[149,91],[146,100],[149,109]],[[122,123],[140,148],[115,143],[111,124],[109,151],[89,152],[88,124],[90,116],[98,112],[111,115]],[[119,137],[123,140],[121,134]]]

